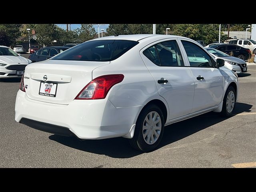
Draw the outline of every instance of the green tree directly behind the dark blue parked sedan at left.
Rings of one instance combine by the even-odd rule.
[[[58,38],[57,26],[54,24],[36,24],[36,40],[40,45],[51,46]]]

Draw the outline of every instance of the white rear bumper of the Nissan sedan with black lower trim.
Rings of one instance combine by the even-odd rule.
[[[33,120],[26,125],[55,134],[58,134],[55,129],[58,126],[70,130],[80,139],[104,139],[126,136],[136,123],[142,107],[115,108],[108,99],[73,100],[68,105],[51,104],[32,100],[19,90],[15,120],[23,124],[26,122],[22,118]]]

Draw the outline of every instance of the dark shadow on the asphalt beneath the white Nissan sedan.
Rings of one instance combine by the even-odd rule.
[[[251,112],[251,108],[252,105],[250,104],[238,102],[236,104],[234,114]],[[166,126],[162,141],[156,150],[226,119],[228,118],[223,118],[218,113],[208,112],[206,114]],[[95,154],[103,154],[112,158],[131,158],[143,153],[131,148],[128,139],[122,137],[80,141],[76,137],[65,137],[54,134],[49,136],[49,139],[74,149]]]

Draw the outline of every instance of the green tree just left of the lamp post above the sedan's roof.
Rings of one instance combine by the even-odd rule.
[[[92,24],[81,24],[78,39],[80,42],[85,42],[93,39],[96,34],[97,33]]]

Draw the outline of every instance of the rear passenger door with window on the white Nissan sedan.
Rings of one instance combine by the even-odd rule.
[[[158,93],[169,107],[169,120],[190,114],[193,107],[194,80],[184,65],[176,40],[158,41],[140,51],[142,60],[154,77]]]

